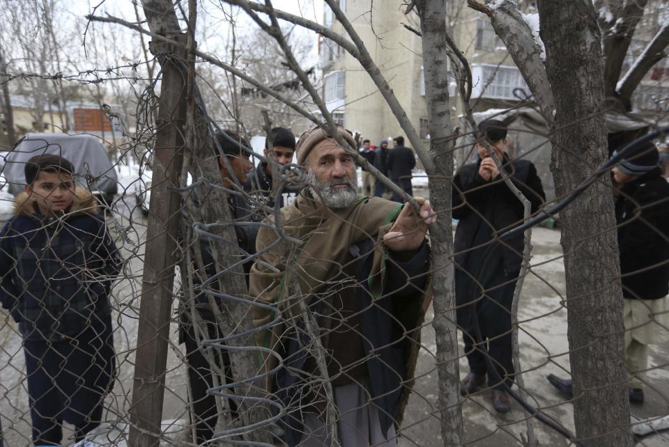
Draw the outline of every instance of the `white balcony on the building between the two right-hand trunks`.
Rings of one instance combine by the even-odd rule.
[[[491,64],[472,64],[472,97],[486,97],[495,100],[519,101],[523,96],[530,96],[530,88],[516,67],[506,67]],[[514,90],[523,90],[520,97]],[[520,93],[520,92],[518,92]]]

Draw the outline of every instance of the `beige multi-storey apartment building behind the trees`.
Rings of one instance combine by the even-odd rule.
[[[403,3],[406,2],[339,0],[340,8],[369,49],[424,143],[427,143],[429,130],[421,40],[404,26],[408,24],[418,29],[419,25],[415,14],[404,15]],[[535,12],[533,1],[523,0],[522,8],[525,13]],[[645,22],[643,26],[640,25],[631,45],[623,74],[633,58],[643,50],[645,43],[652,38],[652,28],[658,26],[657,16],[653,16],[652,11],[648,11],[645,16]],[[530,26],[538,32],[538,17],[527,17]],[[323,20],[332,31],[346,36],[328,6],[324,7]],[[472,106],[475,111],[509,109],[530,97],[520,71],[484,14],[468,8],[465,0],[459,0],[452,2],[452,13],[448,20],[456,44],[470,62],[474,84]],[[403,134],[397,119],[360,63],[327,38],[321,38],[318,50],[323,70],[323,97],[337,122],[349,130],[360,132],[373,142]],[[667,84],[668,79],[669,59],[664,58],[637,88],[633,97],[635,110],[666,110],[669,86],[663,85],[663,82]],[[449,86],[449,93],[455,124],[462,111],[455,80]]]

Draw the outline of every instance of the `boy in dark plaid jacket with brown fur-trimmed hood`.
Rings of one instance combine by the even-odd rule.
[[[35,445],[59,445],[63,421],[83,439],[114,379],[108,297],[120,258],[73,171],[58,155],[31,158],[0,232],[0,300],[24,339]]]

